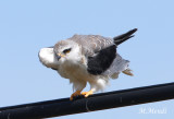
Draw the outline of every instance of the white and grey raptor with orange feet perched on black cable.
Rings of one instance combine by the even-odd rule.
[[[55,70],[73,84],[70,100],[77,96],[88,97],[103,91],[110,79],[117,79],[120,73],[133,76],[129,61],[117,53],[117,46],[134,37],[137,28],[122,35],[103,37],[101,35],[78,35],[59,40],[54,46],[41,48],[38,52],[40,62]],[[88,92],[83,92],[87,83]]]

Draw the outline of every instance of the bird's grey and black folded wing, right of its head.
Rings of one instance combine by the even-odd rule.
[[[83,55],[87,58],[87,71],[90,74],[103,73],[115,58],[116,45],[112,38],[99,35],[74,35],[69,40],[82,46]]]

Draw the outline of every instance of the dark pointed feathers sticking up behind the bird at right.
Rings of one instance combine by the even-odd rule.
[[[114,39],[115,45],[119,46],[119,45],[122,44],[123,41],[125,41],[125,40],[134,37],[133,34],[134,34],[136,31],[137,31],[137,28],[134,28],[134,29],[132,29],[132,31],[128,31],[128,32],[125,33],[125,34],[122,34],[122,35],[119,35],[119,36],[114,37],[113,39]]]

